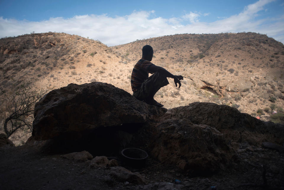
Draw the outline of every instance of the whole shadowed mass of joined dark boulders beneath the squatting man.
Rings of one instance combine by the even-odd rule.
[[[76,147],[95,157],[142,147],[161,162],[197,175],[234,162],[237,142],[259,146],[284,142],[283,125],[262,122],[230,106],[194,102],[166,110],[101,82],[69,84],[49,92],[35,105],[33,127],[35,140],[54,139],[54,146],[64,151],[71,147],[74,152]],[[110,165],[106,157],[96,157],[92,166],[101,161]],[[115,173],[126,180],[125,171]],[[132,177],[144,183],[135,174],[127,181]]]

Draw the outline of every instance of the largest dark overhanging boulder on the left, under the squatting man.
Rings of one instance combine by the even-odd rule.
[[[52,90],[35,104],[35,140],[97,127],[144,123],[166,109],[150,106],[111,84],[69,84]]]

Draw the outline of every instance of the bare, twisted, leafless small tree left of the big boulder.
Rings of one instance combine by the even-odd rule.
[[[50,87],[36,90],[30,86],[30,83],[25,83],[13,93],[4,94],[7,99],[7,105],[2,114],[6,115],[4,117],[6,118],[4,131],[7,137],[11,136],[18,129],[32,131],[35,103],[50,90]]]

